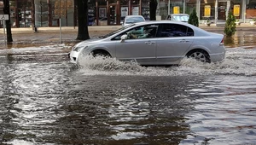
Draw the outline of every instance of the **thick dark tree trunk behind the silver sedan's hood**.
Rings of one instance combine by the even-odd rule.
[[[90,39],[88,32],[88,0],[77,0],[79,16],[79,33],[77,40]]]

